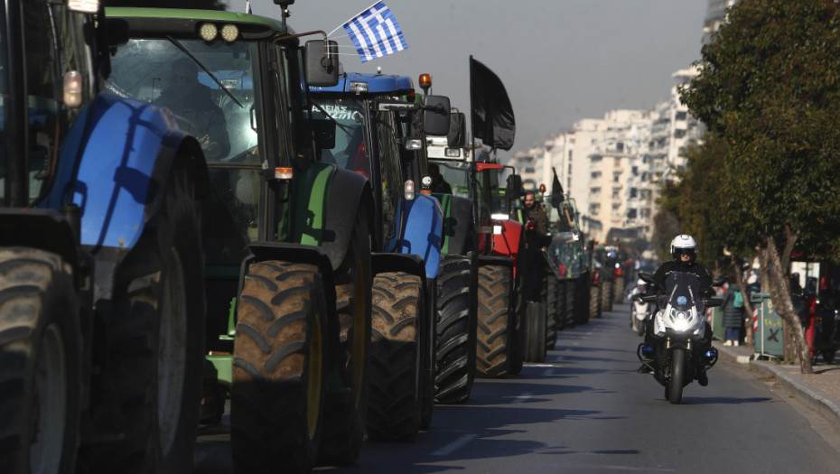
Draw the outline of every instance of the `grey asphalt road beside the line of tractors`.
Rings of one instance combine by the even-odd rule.
[[[745,366],[722,361],[709,386],[669,404],[636,372],[629,305],[562,331],[546,363],[477,380],[462,405],[435,406],[415,442],[366,444],[348,473],[835,472],[840,432]],[[227,415],[226,415],[227,418]],[[816,428],[815,428],[816,427]],[[201,473],[232,472],[226,426],[202,434]],[[833,447],[834,446],[834,447]]]

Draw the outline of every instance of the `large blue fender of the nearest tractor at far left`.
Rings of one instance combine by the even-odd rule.
[[[154,217],[175,156],[186,147],[201,156],[198,142],[178,129],[173,116],[141,101],[102,95],[79,111],[61,145],[55,185],[41,207],[81,210],[81,243],[132,248]],[[193,172],[196,169],[193,168]],[[202,179],[203,178],[203,179]]]

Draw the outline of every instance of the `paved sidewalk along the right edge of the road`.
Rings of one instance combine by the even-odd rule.
[[[723,360],[749,364],[763,376],[776,376],[779,384],[798,400],[840,426],[840,366],[828,365],[820,359],[814,366],[813,375],[803,375],[799,366],[779,365],[772,360],[756,358],[753,348],[723,346],[720,340],[715,340],[713,345]]]

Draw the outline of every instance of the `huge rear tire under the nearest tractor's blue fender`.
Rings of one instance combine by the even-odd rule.
[[[156,216],[117,268],[106,383],[125,435],[90,450],[96,472],[192,468],[204,368],[204,256],[195,184],[176,164]]]

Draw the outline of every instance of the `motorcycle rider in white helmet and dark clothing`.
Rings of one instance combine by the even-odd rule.
[[[694,237],[687,234],[680,234],[671,240],[671,256],[674,260],[665,262],[659,265],[656,273],[653,275],[654,284],[649,287],[649,294],[657,294],[665,290],[665,281],[668,274],[674,272],[682,272],[688,274],[695,274],[700,279],[700,294],[702,297],[709,297],[714,294],[712,290],[712,274],[696,262],[697,258],[697,243]],[[649,319],[648,324],[645,325],[645,344],[654,345],[658,341],[658,336],[653,332],[653,319]],[[700,340],[699,352],[705,354],[706,350],[712,347],[712,326],[705,323],[705,333],[703,339]],[[648,374],[650,368],[642,364],[639,367],[639,373]],[[697,383],[700,386],[707,386],[709,378],[706,376],[705,370],[698,371]]]

